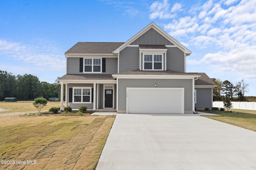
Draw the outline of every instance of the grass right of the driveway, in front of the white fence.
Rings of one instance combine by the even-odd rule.
[[[217,121],[222,121],[231,125],[243,127],[256,131],[256,111],[230,109],[231,111],[208,111],[208,113],[218,114],[220,116],[204,116]]]

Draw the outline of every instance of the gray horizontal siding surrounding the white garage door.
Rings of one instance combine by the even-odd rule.
[[[184,88],[184,113],[193,113],[192,79],[123,79],[118,78],[118,113],[126,113],[126,88]],[[154,97],[154,96],[152,96]]]

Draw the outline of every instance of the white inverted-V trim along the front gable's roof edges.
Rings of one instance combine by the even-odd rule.
[[[124,49],[125,47],[127,47],[128,45],[130,45],[130,43],[132,43],[133,41],[135,41],[138,37],[140,37],[141,35],[143,35],[144,33],[146,33],[146,31],[148,31],[149,29],[153,28],[154,30],[156,30],[158,33],[160,33],[163,37],[165,37],[168,41],[170,41],[171,43],[173,43],[175,46],[177,46],[180,50],[182,50],[184,53],[186,53],[186,56],[191,54],[191,51],[188,50],[186,47],[184,47],[181,43],[179,43],[176,39],[174,39],[173,37],[171,37],[168,33],[166,33],[163,29],[161,29],[160,27],[158,27],[154,22],[150,23],[148,26],[146,26],[144,29],[142,29],[141,31],[139,31],[136,35],[134,35],[133,37],[131,37],[128,41],[126,41],[124,44],[122,44],[120,47],[118,47],[118,49],[116,49],[115,51],[113,51],[113,53],[120,53],[120,51],[122,51],[122,49]]]

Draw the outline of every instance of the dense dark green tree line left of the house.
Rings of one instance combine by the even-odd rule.
[[[34,100],[38,97],[60,98],[60,84],[40,82],[37,76],[24,74],[15,76],[11,72],[0,70],[0,101],[6,97],[17,100]]]

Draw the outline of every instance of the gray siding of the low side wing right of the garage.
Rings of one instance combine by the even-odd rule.
[[[195,88],[196,90],[196,108],[212,107],[212,89],[211,88]]]

